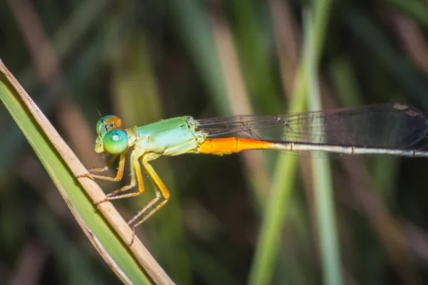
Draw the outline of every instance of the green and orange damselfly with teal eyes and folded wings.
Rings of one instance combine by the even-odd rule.
[[[167,187],[150,164],[161,156],[229,155],[243,150],[428,156],[424,151],[428,145],[427,116],[411,105],[399,103],[279,116],[236,115],[204,120],[183,116],[126,129],[121,119],[107,115],[98,120],[96,131],[95,152],[108,152],[112,157],[106,167],[89,170],[80,177],[120,181],[125,154],[131,150],[131,182],[96,204],[141,195],[141,165],[155,186],[156,197],[128,222],[134,231],[131,244],[136,227],[170,199]],[[117,159],[116,177],[94,174],[109,170]]]

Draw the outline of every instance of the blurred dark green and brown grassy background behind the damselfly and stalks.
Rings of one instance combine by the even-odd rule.
[[[0,5],[1,60],[88,168],[104,161],[93,153],[100,113],[118,115],[126,126],[178,115],[286,113],[297,95],[305,96],[307,84],[297,75],[303,74],[308,9],[323,108],[402,102],[428,113],[426,1]],[[119,284],[3,108],[0,116],[1,283]],[[278,185],[290,195],[283,197],[279,237],[272,238],[275,254],[258,261],[272,264],[273,275],[263,280],[322,283],[328,259],[320,253],[318,181],[302,157],[293,179],[278,184],[279,156],[184,155],[153,162],[172,197],[138,237],[177,284],[254,278],[267,197]],[[330,222],[337,224],[331,242],[340,252],[342,281],[427,283],[428,160],[339,159],[331,170],[336,219]],[[100,184],[106,192],[119,186]],[[143,197],[114,202],[125,219],[153,197],[146,185]]]

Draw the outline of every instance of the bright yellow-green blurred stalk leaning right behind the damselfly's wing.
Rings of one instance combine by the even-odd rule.
[[[310,41],[313,43],[312,64],[317,66],[324,43],[325,28],[330,14],[331,1],[316,1],[314,4],[314,21],[308,27],[308,37],[310,37]],[[302,57],[300,62],[289,113],[298,113],[305,109],[305,93],[309,85],[307,60],[308,58]],[[297,157],[295,155],[280,155],[280,158],[277,160],[272,187],[265,203],[263,223],[253,266],[250,271],[249,284],[269,284],[272,279],[278,245],[280,244],[282,225],[287,214],[290,194],[294,187],[296,162]]]

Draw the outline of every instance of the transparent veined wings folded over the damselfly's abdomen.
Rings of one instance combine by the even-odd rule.
[[[428,118],[406,104],[367,105],[279,116],[197,120],[208,138],[250,138],[315,145],[426,147]]]

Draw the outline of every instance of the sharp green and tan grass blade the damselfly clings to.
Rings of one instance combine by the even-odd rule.
[[[1,61],[0,71],[0,99],[30,142],[83,232],[108,266],[125,284],[149,284],[143,269],[156,283],[171,284],[172,281],[141,242],[136,240],[136,244],[128,247],[122,241],[131,237],[131,229],[111,203],[106,202],[99,207],[104,218],[99,214],[92,201],[105,197],[102,190],[92,180],[76,180],[75,175],[87,170]]]

